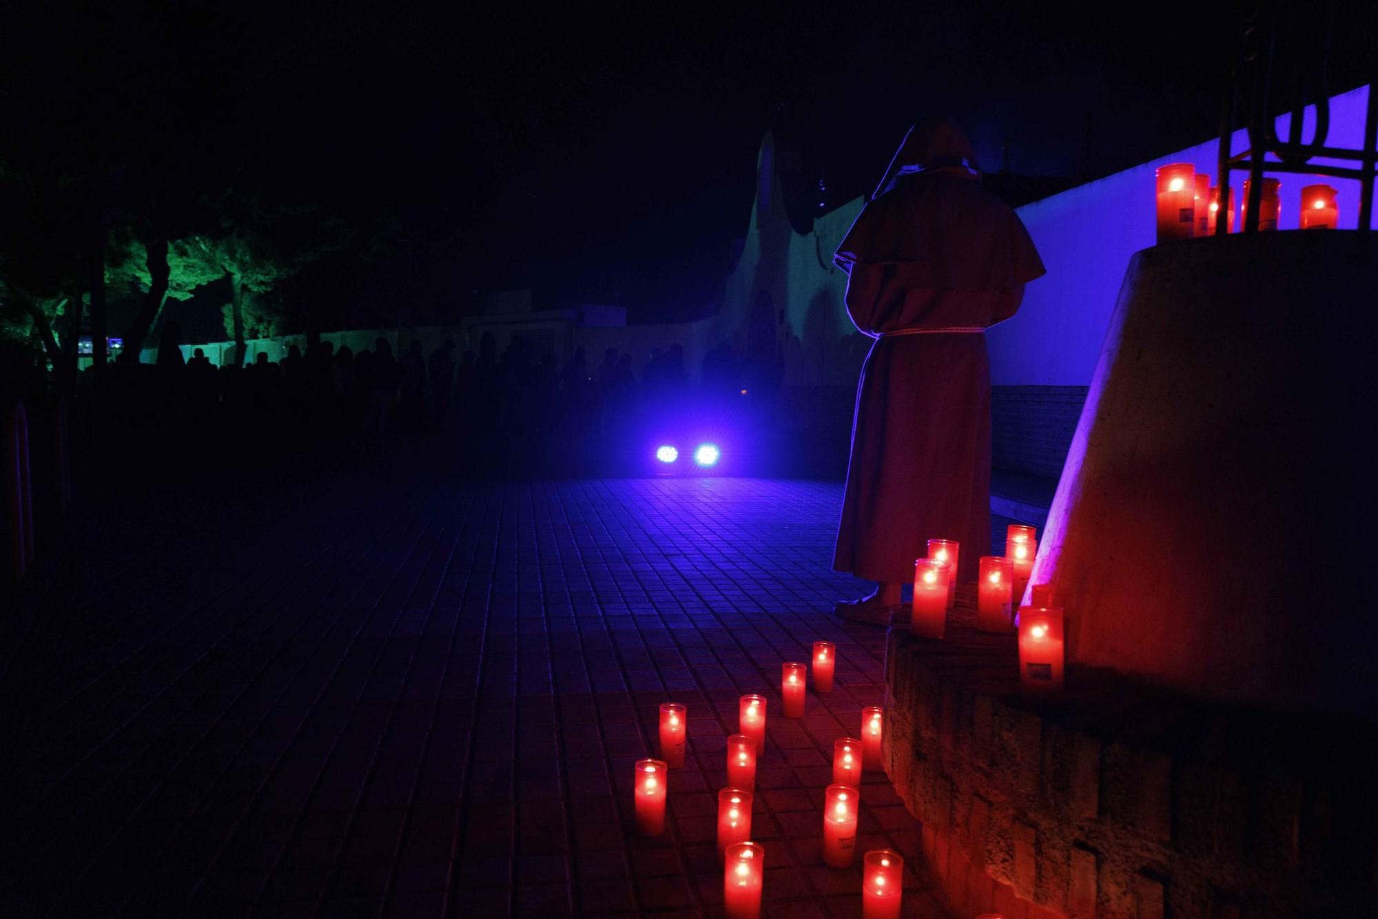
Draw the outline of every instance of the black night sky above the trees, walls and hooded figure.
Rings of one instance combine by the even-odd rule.
[[[927,109],[988,169],[1007,139],[1016,172],[1091,178],[1204,139],[1220,105],[1207,14],[1163,4],[169,7],[11,8],[6,156],[327,203],[393,229],[360,289],[456,309],[506,285],[711,309],[768,128],[831,207]]]

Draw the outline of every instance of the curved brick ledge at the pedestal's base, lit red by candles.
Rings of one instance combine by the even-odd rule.
[[[963,590],[944,641],[901,626],[886,649],[886,772],[952,908],[1146,919],[1378,904],[1371,723],[1200,704],[1082,667],[1060,697],[1031,700],[1014,635],[973,621]]]

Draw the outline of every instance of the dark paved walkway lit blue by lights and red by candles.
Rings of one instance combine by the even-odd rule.
[[[0,623],[6,915],[714,915],[743,692],[772,699],[768,912],[858,915],[821,795],[885,634],[821,612],[861,588],[828,570],[841,485],[380,481],[131,503]],[[836,689],[785,721],[816,638]],[[648,842],[631,766],[666,700],[690,756]],[[915,864],[883,776],[860,832]],[[907,915],[943,915],[925,883]]]

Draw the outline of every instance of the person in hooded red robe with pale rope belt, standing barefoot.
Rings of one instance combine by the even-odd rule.
[[[1018,216],[981,187],[949,120],[909,130],[834,262],[852,321],[875,339],[861,371],[832,566],[878,581],[839,603],[889,623],[929,539],[960,541],[960,581],[989,553],[991,372],[983,332],[1014,316],[1043,263]]]

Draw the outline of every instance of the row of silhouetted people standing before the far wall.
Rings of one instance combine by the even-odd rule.
[[[153,365],[116,373],[119,402],[142,413],[142,427],[223,422],[288,442],[426,431],[616,440],[690,400],[736,408],[754,394],[762,404],[780,384],[773,355],[739,358],[726,342],[704,355],[695,383],[681,344],[653,349],[639,368],[617,349],[594,366],[582,347],[561,365],[520,335],[499,353],[486,332],[477,353],[451,339],[429,354],[412,340],[400,355],[386,338],[360,351],[321,340],[305,351],[292,344],[280,361],[260,351],[243,366],[216,366],[200,347],[183,360],[176,333],[165,332]]]

